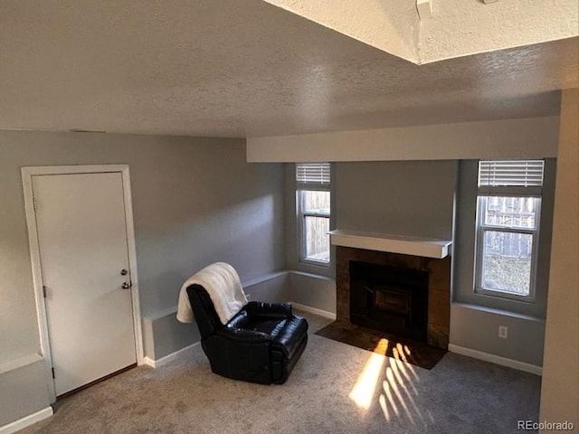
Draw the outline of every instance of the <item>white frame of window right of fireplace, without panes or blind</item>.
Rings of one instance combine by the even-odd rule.
[[[541,228],[541,204],[542,197],[540,194],[529,193],[524,194],[517,192],[517,188],[509,189],[505,187],[498,188],[497,193],[483,193],[479,192],[477,195],[477,217],[476,217],[476,238],[475,238],[475,261],[474,261],[474,292],[477,294],[482,294],[489,297],[498,298],[508,298],[510,300],[517,300],[522,302],[534,302],[536,296],[536,269],[538,262],[538,246],[539,246],[539,236]],[[486,210],[486,202],[489,197],[522,197],[522,198],[533,198],[536,201],[536,211],[535,211],[535,228],[515,228],[508,226],[499,226],[493,224],[485,224],[483,222],[483,215]],[[482,282],[483,274],[483,257],[484,257],[484,236],[487,231],[496,231],[503,233],[523,233],[531,235],[531,269],[529,276],[529,289],[528,295],[518,295],[512,292],[501,291],[498,289],[484,288]]]

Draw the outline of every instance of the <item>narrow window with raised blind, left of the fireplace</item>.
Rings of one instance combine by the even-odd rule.
[[[329,264],[329,163],[296,165],[299,259]]]

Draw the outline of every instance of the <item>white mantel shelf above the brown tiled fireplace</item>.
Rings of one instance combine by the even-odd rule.
[[[449,247],[452,244],[452,241],[448,240],[360,231],[329,231],[329,236],[333,246],[388,251],[435,259],[446,258],[449,254]]]

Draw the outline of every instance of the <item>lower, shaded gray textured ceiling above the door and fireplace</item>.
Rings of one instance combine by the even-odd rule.
[[[558,113],[577,38],[417,66],[260,0],[0,2],[0,128],[256,137]]]

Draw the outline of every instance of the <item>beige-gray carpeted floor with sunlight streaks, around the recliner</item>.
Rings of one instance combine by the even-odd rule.
[[[288,382],[263,386],[211,373],[201,346],[56,405],[21,434],[516,433],[538,420],[540,378],[446,354],[428,371],[314,335],[330,321],[305,314],[308,347]]]

